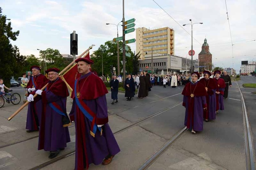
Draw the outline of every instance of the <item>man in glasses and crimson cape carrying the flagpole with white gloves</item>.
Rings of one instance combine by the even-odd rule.
[[[70,120],[66,113],[66,99],[69,93],[65,82],[58,78],[59,71],[58,68],[46,70],[49,78],[47,87],[44,91],[40,89],[35,91],[42,96],[43,103],[38,150],[50,151],[50,159],[55,158],[60,150],[65,149],[66,143],[70,142],[68,131]]]

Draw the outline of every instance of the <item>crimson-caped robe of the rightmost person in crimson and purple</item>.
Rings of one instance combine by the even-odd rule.
[[[216,79],[214,78],[215,84],[216,84],[216,92],[220,92],[220,94],[216,94],[216,111],[217,110],[224,110],[224,101],[223,101],[223,95],[225,91],[225,81],[222,78]]]

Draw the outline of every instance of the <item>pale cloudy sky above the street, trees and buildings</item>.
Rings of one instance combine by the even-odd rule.
[[[193,25],[193,59],[198,59],[207,39],[215,67],[234,68],[239,73],[241,61],[256,61],[255,0],[124,0],[125,21],[135,18],[135,27],[175,31],[175,55],[190,57],[191,25]],[[11,44],[21,55],[39,56],[37,49],[58,49],[70,53],[70,34],[78,34],[78,54],[95,44],[117,36],[123,18],[123,0],[0,0],[2,14],[11,19],[19,36]],[[158,4],[158,5],[157,5]],[[227,6],[226,6],[227,5]],[[228,12],[228,19],[227,19]],[[228,24],[229,21],[229,24]],[[118,27],[122,35],[122,27]],[[136,38],[136,32],[126,34]],[[233,44],[233,45],[232,45]],[[136,51],[136,43],[128,44]]]

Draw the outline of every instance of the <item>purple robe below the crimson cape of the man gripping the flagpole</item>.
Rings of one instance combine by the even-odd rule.
[[[57,151],[66,147],[66,143],[70,142],[70,134],[68,127],[63,127],[62,115],[54,111],[49,103],[56,102],[58,106],[66,112],[66,97],[60,97],[51,91],[46,91],[45,117],[42,117],[41,127],[39,131],[38,150]],[[43,125],[44,124],[44,125]]]

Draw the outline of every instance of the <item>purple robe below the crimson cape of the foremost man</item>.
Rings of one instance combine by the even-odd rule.
[[[81,82],[87,77],[81,76]],[[92,83],[92,82],[90,82]],[[93,84],[90,84],[93,86]],[[81,85],[80,87],[81,88]],[[83,100],[83,102],[96,114],[97,119],[105,120],[107,114],[106,96],[102,95],[92,100]],[[70,119],[75,120],[76,126],[76,159],[75,170],[83,170],[89,168],[89,164],[99,165],[102,160],[108,155],[115,155],[120,152],[120,148],[115,140],[115,137],[108,123],[102,126],[102,135],[99,130],[96,131],[95,137],[90,134],[91,121],[84,116],[78,109],[76,100],[73,99],[72,109],[70,111]],[[84,147],[86,145],[86,147]]]

